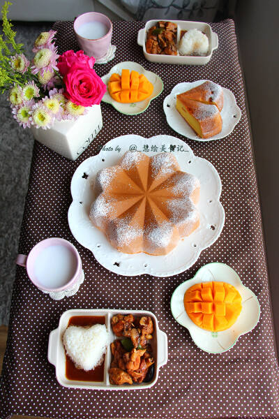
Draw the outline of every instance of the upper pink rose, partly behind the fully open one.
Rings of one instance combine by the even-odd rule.
[[[57,67],[59,68],[59,73],[63,77],[68,71],[77,70],[77,68],[80,68],[81,70],[84,68],[93,68],[94,63],[95,58],[84,54],[82,50],[77,52],[68,50],[60,55]]]

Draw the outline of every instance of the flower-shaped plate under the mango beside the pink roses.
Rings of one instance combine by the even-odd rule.
[[[105,103],[110,103],[116,110],[118,110],[119,112],[125,115],[140,114],[144,112],[144,110],[146,110],[149,107],[150,102],[153,99],[155,99],[157,96],[159,96],[159,94],[162,92],[163,87],[164,87],[163,81],[157,74],[152,73],[152,71],[145,70],[145,68],[143,68],[140,64],[134,63],[133,61],[123,61],[113,66],[110,69],[110,73],[103,75],[102,77],[103,82],[107,85],[110,80],[110,76],[113,73],[117,73],[121,75],[123,69],[127,69],[130,71],[134,70],[140,74],[145,75],[145,77],[149,80],[149,82],[153,84],[153,92],[151,96],[149,96],[149,98],[146,98],[144,101],[140,101],[140,102],[120,103],[120,102],[114,101],[114,99],[112,98],[112,96],[110,96],[110,93],[107,89],[107,91],[105,92],[105,95],[103,96],[102,101]]]

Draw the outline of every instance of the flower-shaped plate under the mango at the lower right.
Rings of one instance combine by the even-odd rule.
[[[242,297],[241,314],[236,323],[222,332],[210,332],[195,325],[190,319],[183,304],[183,297],[188,288],[199,282],[220,281],[233,285]],[[239,275],[225,263],[209,263],[201,267],[193,279],[180,284],[172,294],[170,302],[172,316],[187,328],[195,344],[202,351],[222,353],[228,351],[241,335],[250,332],[259,321],[260,307],[255,294],[244,286]]]

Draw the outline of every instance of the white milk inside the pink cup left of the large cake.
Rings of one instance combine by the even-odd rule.
[[[58,244],[41,251],[34,265],[36,278],[47,288],[59,288],[73,278],[77,259],[73,251]]]

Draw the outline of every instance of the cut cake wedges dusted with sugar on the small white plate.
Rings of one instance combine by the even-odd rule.
[[[201,138],[211,138],[222,131],[223,89],[206,81],[176,96],[176,109]]]

